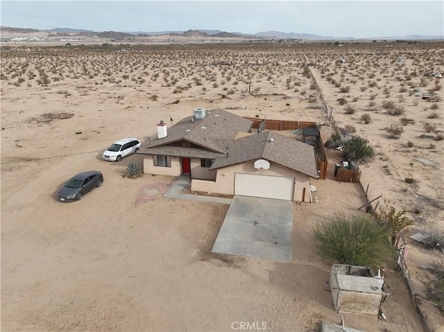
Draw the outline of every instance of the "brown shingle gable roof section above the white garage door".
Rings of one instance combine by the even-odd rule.
[[[311,177],[318,177],[313,146],[275,131],[266,131],[231,141],[228,157],[218,158],[210,169],[266,159]]]

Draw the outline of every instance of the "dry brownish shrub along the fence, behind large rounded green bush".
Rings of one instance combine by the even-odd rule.
[[[407,211],[397,211],[390,200],[384,200],[384,204],[379,204],[378,211],[373,212],[379,225],[390,229],[392,235],[395,236],[400,231],[409,231],[409,227],[413,225],[413,219],[406,216]],[[394,238],[392,238],[392,243]]]

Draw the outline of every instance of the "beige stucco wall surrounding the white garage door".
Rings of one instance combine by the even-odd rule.
[[[246,164],[235,166],[228,166],[217,170],[216,181],[191,180],[191,191],[203,191],[211,193],[221,193],[224,195],[234,195],[234,174],[248,173],[257,175],[272,175],[282,177],[294,177],[295,184],[293,190],[293,201],[305,202],[310,201],[309,196],[309,177],[296,171],[291,171],[277,164],[271,164],[270,169],[258,171],[254,167],[254,161]],[[305,188],[305,197],[302,198],[302,193]]]

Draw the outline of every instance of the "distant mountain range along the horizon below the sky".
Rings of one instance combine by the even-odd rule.
[[[221,30],[167,30],[167,31],[133,31],[133,32],[117,32],[117,31],[102,31],[96,32],[85,29],[73,29],[73,28],[53,28],[50,30],[37,30],[30,28],[10,28],[7,26],[1,26],[0,32],[11,33],[49,33],[50,37],[62,37],[63,35],[69,36],[85,36],[85,37],[104,37],[104,38],[125,38],[125,37],[150,37],[159,35],[181,36],[181,37],[255,37],[263,39],[282,39],[282,40],[442,40],[444,35],[432,36],[432,35],[404,35],[404,36],[378,36],[378,37],[333,37],[333,36],[320,36],[310,33],[284,33],[281,31],[262,31],[255,34],[245,34],[239,32],[225,32]]]

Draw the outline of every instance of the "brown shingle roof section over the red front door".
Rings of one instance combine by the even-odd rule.
[[[166,146],[176,141],[186,140],[213,152],[225,153],[227,141],[236,137],[238,132],[248,132],[253,121],[224,110],[207,111],[205,119],[192,121],[194,116],[182,119],[167,129],[167,137],[158,139],[157,135],[145,143],[139,153],[153,154],[153,148]]]

